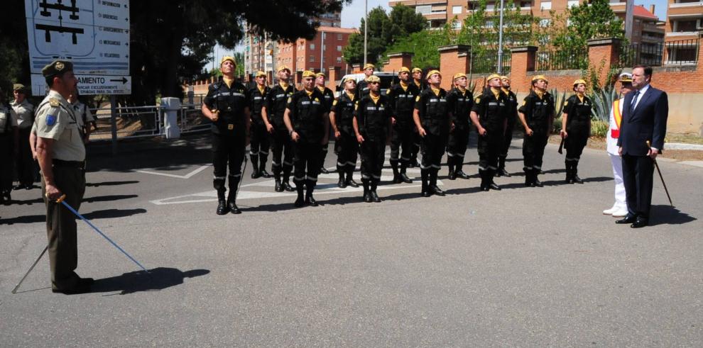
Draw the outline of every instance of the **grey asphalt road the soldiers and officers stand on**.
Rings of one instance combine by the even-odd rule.
[[[225,216],[207,137],[107,150],[89,148],[80,212],[151,273],[79,221],[77,271],[94,292],[51,293],[45,258],[11,294],[46,243],[39,190],[15,191],[0,207],[0,345],[703,345],[703,168],[660,162],[676,208],[657,179],[652,226],[632,230],[601,214],[613,181],[596,150],[582,157],[583,185],[562,184],[548,145],[544,188],[516,174],[479,192],[471,147],[472,179],[442,167],[445,197],[420,197],[418,178],[363,203],[331,174],[317,208],[293,208],[247,169],[244,213]]]

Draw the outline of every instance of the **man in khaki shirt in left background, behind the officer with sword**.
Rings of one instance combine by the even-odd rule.
[[[29,132],[34,123],[34,106],[27,100],[27,89],[23,84],[14,84],[12,93],[15,100],[10,103],[12,110],[17,115],[17,129],[19,131],[18,151],[15,158],[17,168],[17,179],[19,184],[15,189],[32,189],[34,186],[34,174],[36,164],[32,158],[32,151],[29,148]]]

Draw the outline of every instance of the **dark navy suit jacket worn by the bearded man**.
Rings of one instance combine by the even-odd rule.
[[[663,150],[669,114],[666,92],[650,85],[632,111],[630,104],[634,95],[634,91],[628,93],[623,101],[618,146],[623,148],[623,155],[646,156],[649,150],[646,141],[649,140],[652,147]]]

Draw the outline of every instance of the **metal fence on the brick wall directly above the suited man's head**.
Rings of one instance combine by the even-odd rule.
[[[697,64],[699,49],[699,39],[667,43],[633,43],[620,48],[619,64],[621,67],[640,64],[650,67]]]

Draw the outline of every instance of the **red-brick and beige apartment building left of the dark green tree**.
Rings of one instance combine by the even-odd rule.
[[[349,43],[349,35],[357,31],[355,28],[321,26],[311,40],[278,43],[276,65],[285,64],[293,72],[326,72],[329,67],[339,67],[343,72],[350,71],[351,65],[342,57],[342,50]]]

